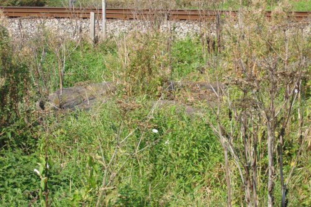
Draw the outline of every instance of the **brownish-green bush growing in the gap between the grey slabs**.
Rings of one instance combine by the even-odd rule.
[[[127,95],[153,94],[170,76],[167,39],[159,32],[135,33],[118,50],[119,73]]]

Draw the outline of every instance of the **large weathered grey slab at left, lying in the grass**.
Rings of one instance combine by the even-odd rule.
[[[49,95],[44,107],[40,106],[40,108],[41,110],[46,107],[71,110],[89,109],[95,103],[105,102],[115,90],[116,88],[110,82],[63,88]]]

